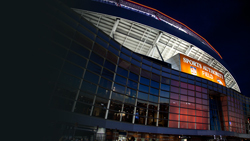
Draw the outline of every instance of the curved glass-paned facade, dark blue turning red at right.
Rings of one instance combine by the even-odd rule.
[[[248,97],[137,54],[64,6],[48,11],[51,47],[42,51],[53,62],[53,109],[148,126],[249,133]]]

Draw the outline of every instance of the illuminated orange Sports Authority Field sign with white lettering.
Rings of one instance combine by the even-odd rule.
[[[180,54],[181,71],[226,86],[224,75],[205,63]]]

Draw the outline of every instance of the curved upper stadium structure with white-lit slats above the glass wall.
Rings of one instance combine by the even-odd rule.
[[[145,9],[138,3],[133,4],[130,0],[119,3],[115,0],[99,1],[115,6],[94,1],[78,1],[73,10],[134,52],[159,60],[162,56],[164,61],[182,53],[204,62],[224,74],[227,87],[240,92],[236,80],[219,53],[203,37],[204,40],[200,38],[199,34],[194,34],[196,32],[189,30],[187,26],[185,28],[184,24],[173,21],[173,18],[166,19],[157,13],[152,14],[152,10]]]

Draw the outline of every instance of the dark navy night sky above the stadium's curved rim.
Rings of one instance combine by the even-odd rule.
[[[155,8],[203,36],[250,97],[250,8],[247,0],[133,0]]]

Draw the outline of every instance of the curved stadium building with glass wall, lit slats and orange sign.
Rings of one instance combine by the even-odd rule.
[[[50,140],[249,140],[250,98],[185,24],[130,0],[53,1]]]

